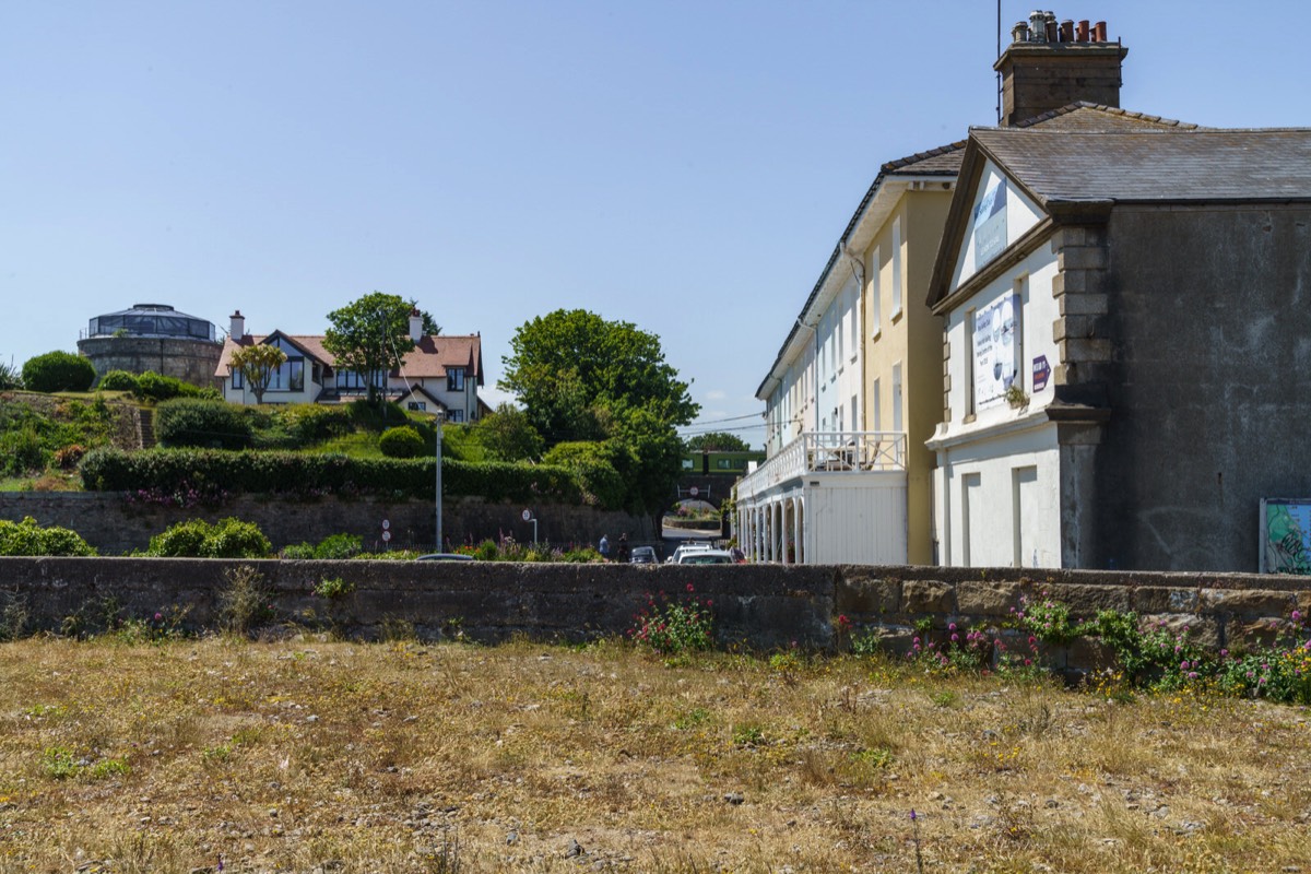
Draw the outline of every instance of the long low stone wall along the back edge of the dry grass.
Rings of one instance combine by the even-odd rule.
[[[1272,622],[1294,609],[1311,613],[1311,580],[1240,574],[1021,571],[1011,569],[872,566],[641,566],[515,565],[507,562],[229,561],[165,558],[0,558],[0,608],[17,603],[26,630],[58,632],[66,618],[149,618],[186,611],[185,626],[212,630],[228,574],[241,565],[262,575],[275,625],[304,626],[363,639],[397,629],[420,639],[456,629],[476,641],[523,634],[589,639],[624,634],[648,598],[662,592],[709,599],[724,645],[754,649],[793,643],[817,650],[844,645],[838,617],[852,632],[878,632],[905,651],[927,620],[995,629],[1003,637],[1021,595],[1061,600],[1076,616],[1135,611],[1171,629],[1188,626],[1211,650],[1239,651],[1269,642]],[[354,591],[328,600],[313,594],[341,578]],[[1088,642],[1049,651],[1055,667],[1099,667],[1105,654]]]

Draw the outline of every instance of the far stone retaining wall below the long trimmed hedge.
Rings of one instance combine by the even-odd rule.
[[[532,523],[520,518],[524,507],[493,503],[481,498],[447,498],[442,504],[442,535],[447,544],[479,541],[513,535],[532,542]],[[602,533],[617,540],[628,532],[635,542],[658,535],[650,519],[608,512],[593,507],[543,504],[532,507],[538,516],[538,537],[553,544],[595,544]],[[123,554],[144,549],[153,535],[187,519],[218,522],[236,516],[253,522],[273,541],[274,549],[288,544],[319,542],[338,533],[358,535],[366,548],[382,549],[383,520],[391,524],[391,546],[434,549],[437,508],[420,501],[343,501],[323,498],[313,502],[282,501],[239,495],[216,507],[165,507],[128,502],[121,493],[98,491],[17,491],[0,494],[0,519],[18,522],[31,516],[42,525],[71,528],[102,554]]]

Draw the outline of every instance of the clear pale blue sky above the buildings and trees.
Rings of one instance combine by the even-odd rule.
[[[1311,3],[1054,12],[1122,38],[1126,109],[1311,124]],[[987,0],[0,0],[0,359],[379,290],[481,332],[496,401],[515,328],[581,307],[754,426],[880,164],[995,123],[995,58]]]

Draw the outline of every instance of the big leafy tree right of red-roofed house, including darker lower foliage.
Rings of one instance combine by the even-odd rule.
[[[665,362],[659,338],[558,309],[522,325],[510,347],[498,385],[523,402],[547,443],[604,442],[629,510],[661,508],[680,472],[675,427],[700,406]]]

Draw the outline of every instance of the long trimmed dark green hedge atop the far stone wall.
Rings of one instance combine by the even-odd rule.
[[[361,494],[431,498],[434,459],[353,459],[307,452],[228,452],[224,449],[146,449],[102,447],[79,465],[90,491],[222,489],[253,494]],[[581,503],[577,476],[552,465],[442,459],[447,495],[489,501]]]

